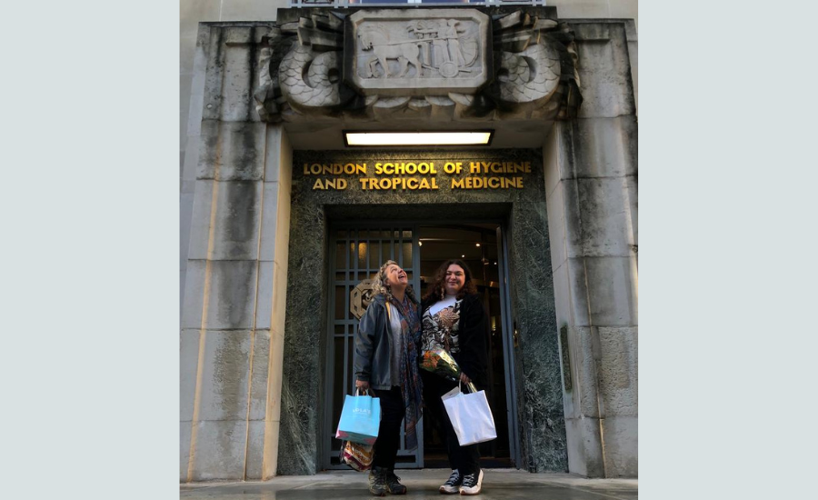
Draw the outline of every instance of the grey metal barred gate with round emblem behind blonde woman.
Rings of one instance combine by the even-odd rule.
[[[341,417],[344,395],[354,394],[354,335],[358,317],[368,305],[369,285],[387,260],[394,260],[406,271],[409,283],[420,295],[420,254],[416,225],[337,225],[329,238],[329,300],[327,317],[326,380],[324,385],[323,466],[348,469],[339,455],[342,442],[335,439],[335,427]],[[424,435],[423,422],[417,433]],[[396,467],[423,467],[424,445],[407,451],[401,425],[401,449]]]

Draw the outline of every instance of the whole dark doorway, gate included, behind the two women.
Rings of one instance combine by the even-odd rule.
[[[338,223],[329,231],[329,301],[327,317],[326,378],[324,405],[324,468],[345,469],[338,455],[341,441],[334,437],[344,395],[354,393],[353,347],[358,317],[362,314],[365,283],[387,259],[404,267],[410,283],[423,295],[434,271],[444,260],[460,258],[472,269],[478,292],[490,316],[491,331],[487,342],[488,386],[485,387],[492,407],[497,439],[480,445],[482,465],[514,467],[515,436],[509,425],[515,422],[510,369],[508,293],[504,288],[504,242],[499,223],[465,223],[457,225],[426,223]],[[357,306],[356,306],[357,302]],[[505,305],[504,305],[505,304]],[[357,311],[357,314],[356,314]],[[511,411],[509,408],[512,408]],[[419,425],[423,442],[416,450],[398,452],[399,468],[447,467],[445,449],[434,423],[424,415]]]

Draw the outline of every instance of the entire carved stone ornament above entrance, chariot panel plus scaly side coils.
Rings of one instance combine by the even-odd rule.
[[[570,26],[509,10],[298,9],[264,39],[256,109],[264,121],[574,117]]]

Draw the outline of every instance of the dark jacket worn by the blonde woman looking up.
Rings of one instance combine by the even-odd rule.
[[[415,352],[419,351],[418,345]],[[386,296],[375,295],[355,333],[355,378],[369,382],[375,390],[388,391],[393,385],[401,384],[399,380],[392,380],[391,362],[392,328],[387,321]]]

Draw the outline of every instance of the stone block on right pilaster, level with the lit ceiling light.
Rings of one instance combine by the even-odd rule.
[[[623,177],[637,172],[636,116],[574,120],[577,177]]]

